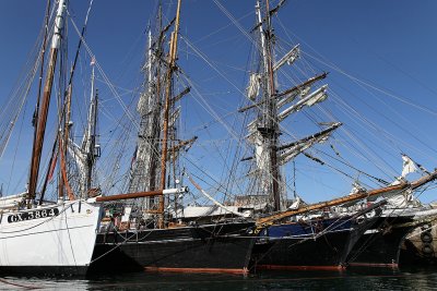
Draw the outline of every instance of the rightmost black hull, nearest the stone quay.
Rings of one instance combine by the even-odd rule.
[[[380,217],[355,244],[347,262],[351,267],[399,267],[401,244],[415,227],[412,217]]]

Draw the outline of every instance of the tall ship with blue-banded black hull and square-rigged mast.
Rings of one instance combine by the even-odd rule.
[[[246,156],[241,162],[250,162],[248,193],[264,207],[255,214],[261,217],[257,220],[258,240],[252,254],[252,265],[256,269],[331,269],[345,266],[349,252],[361,235],[373,226],[376,217],[368,214],[379,210],[381,204],[353,214],[334,214],[322,210],[322,204],[310,210],[296,215],[284,216],[282,219],[269,217],[287,213],[290,208],[299,209],[302,199],[295,195],[287,198],[287,185],[283,175],[286,165],[296,156],[312,157],[307,149],[327,141],[342,124],[340,122],[324,123],[326,128],[295,142],[282,142],[281,135],[287,130],[281,123],[298,111],[305,111],[322,102],[328,97],[328,85],[319,85],[327,73],[316,74],[300,84],[288,86],[279,84],[277,74],[284,66],[293,65],[300,57],[299,46],[290,48],[275,60],[274,45],[279,36],[274,34],[272,19],[284,5],[270,7],[270,1],[256,2],[256,24],[251,33],[257,61],[251,70],[247,87],[248,102],[239,109],[248,112],[248,134],[246,136],[252,155]],[[315,87],[315,89],[312,89]],[[295,193],[296,194],[296,193]],[[256,198],[253,198],[256,197]]]

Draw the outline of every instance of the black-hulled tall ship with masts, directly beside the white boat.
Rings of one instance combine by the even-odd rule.
[[[172,184],[178,187],[181,179],[177,170],[179,153],[196,141],[196,137],[189,141],[177,137],[178,101],[190,90],[186,87],[175,94],[175,75],[181,73],[176,62],[179,15],[180,0],[176,17],[163,25],[160,8],[155,32],[152,33],[152,28],[149,32],[144,92],[138,104],[140,131],[127,191],[132,198],[135,193],[163,190]],[[162,195],[123,205],[120,223],[110,222],[108,229],[97,235],[95,267],[114,269],[116,265],[117,271],[247,272],[255,243],[251,232],[255,222],[245,219],[184,222],[177,216],[184,193],[164,191]],[[111,201],[114,197],[102,198]]]

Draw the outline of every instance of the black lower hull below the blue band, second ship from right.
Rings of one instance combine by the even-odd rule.
[[[253,250],[253,264],[257,269],[342,269],[352,247],[375,221],[353,222],[316,239],[290,237],[269,239],[267,243],[260,240]]]

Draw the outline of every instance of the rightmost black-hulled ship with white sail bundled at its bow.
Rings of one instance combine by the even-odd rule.
[[[402,174],[392,185],[404,185],[404,187],[385,194],[389,203],[376,223],[364,233],[351,251],[347,257],[351,267],[399,267],[402,245],[408,243],[405,239],[414,229],[426,228],[437,219],[436,209],[422,205],[414,197],[414,193],[425,191],[429,186],[428,183],[436,180],[436,171],[427,171],[406,155],[402,155]],[[406,175],[415,171],[422,171],[423,177],[406,182]],[[375,199],[368,197],[367,201],[371,203]],[[409,260],[405,259],[404,263],[408,265]]]

